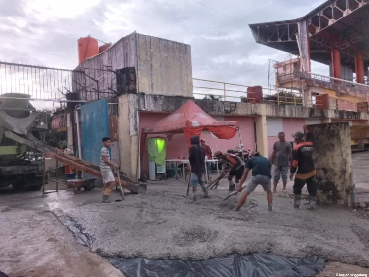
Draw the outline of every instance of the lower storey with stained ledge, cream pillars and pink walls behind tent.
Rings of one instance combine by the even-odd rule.
[[[189,99],[180,96],[146,95],[140,96],[140,105],[145,111],[140,112],[140,127],[152,126],[156,121],[162,119],[169,113],[179,109]],[[263,156],[271,155],[271,148],[276,135],[268,136],[267,118],[279,118],[282,121],[282,130],[285,132],[287,140],[292,141],[294,132],[301,130],[304,124],[331,122],[331,121],[352,121],[369,123],[369,113],[319,110],[300,106],[271,106],[268,104],[252,104],[241,102],[224,102],[193,99],[206,113],[221,120],[238,120],[241,126],[242,143],[245,147],[254,150],[255,138],[254,127],[256,126],[256,138],[258,151]],[[122,170],[131,177],[136,176],[137,154],[138,154],[138,132],[137,132],[137,103],[138,95],[127,93],[119,97],[119,141],[121,146]],[[221,119],[222,118],[222,119]],[[213,150],[227,150],[238,144],[238,138],[221,141],[211,138],[210,134],[202,134],[208,140]],[[219,141],[219,143],[218,143]],[[223,144],[224,142],[224,144]],[[181,134],[174,135],[172,141],[168,142],[168,157],[178,158],[187,156],[185,137]],[[145,154],[145,153],[144,153]],[[147,153],[145,154],[147,155]],[[146,164],[147,156],[144,157]],[[145,165],[144,165],[145,166]],[[146,169],[143,168],[142,171]]]

